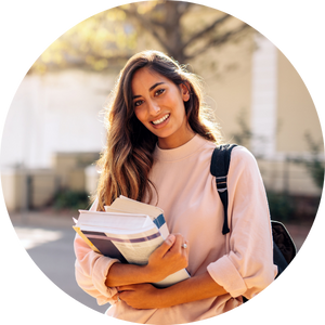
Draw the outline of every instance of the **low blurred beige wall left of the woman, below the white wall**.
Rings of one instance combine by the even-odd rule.
[[[50,205],[58,191],[89,192],[86,169],[98,158],[99,153],[56,153],[48,169],[1,169],[1,204],[8,211],[38,209]]]

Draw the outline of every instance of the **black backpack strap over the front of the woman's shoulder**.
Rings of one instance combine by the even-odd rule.
[[[210,172],[216,177],[217,188],[223,204],[224,221],[222,234],[225,235],[230,232],[227,226],[227,187],[226,177],[231,160],[231,152],[236,144],[224,144],[214,148],[211,158]]]

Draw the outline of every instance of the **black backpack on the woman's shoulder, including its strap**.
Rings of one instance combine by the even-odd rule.
[[[220,145],[214,148],[210,172],[216,177],[217,188],[223,204],[224,221],[222,234],[230,232],[227,226],[227,188],[226,176],[231,160],[231,152],[236,144]],[[275,281],[278,283],[290,270],[295,262],[299,259],[297,255],[296,245],[290,237],[285,225],[278,221],[271,220],[272,235],[273,235],[273,263],[277,265],[277,275]],[[243,297],[245,306],[248,300]]]

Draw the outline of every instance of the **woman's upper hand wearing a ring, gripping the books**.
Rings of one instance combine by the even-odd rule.
[[[186,248],[182,245],[186,244]],[[145,266],[152,282],[159,282],[188,265],[188,243],[181,234],[170,234],[151,255]]]

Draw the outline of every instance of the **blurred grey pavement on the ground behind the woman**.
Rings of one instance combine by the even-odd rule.
[[[34,270],[62,297],[83,310],[103,316],[109,304],[99,306],[96,300],[82,291],[75,280],[75,231],[73,217],[77,211],[4,211],[9,231],[17,248]],[[306,249],[316,224],[285,224],[299,255]],[[17,250],[18,251],[18,250]]]

